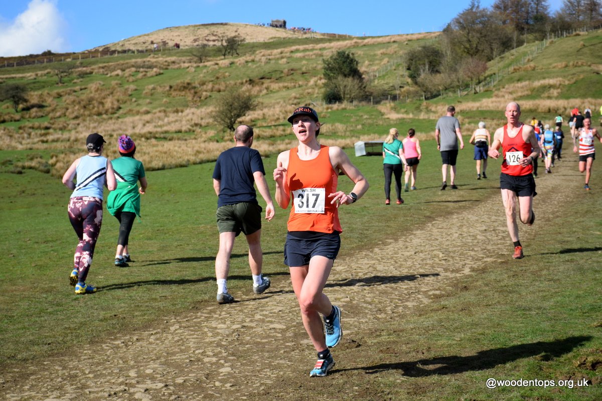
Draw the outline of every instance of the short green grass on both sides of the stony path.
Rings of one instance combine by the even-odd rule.
[[[411,232],[442,214],[453,216],[467,204],[499,196],[494,178],[497,163],[490,164],[491,179],[476,181],[471,146],[461,152],[459,191],[439,191],[441,170],[432,140],[424,141],[423,155],[418,168],[420,190],[402,193],[406,204],[400,207],[399,219],[388,221],[374,218],[374,212],[385,207],[381,159],[351,156],[371,188],[341,216],[343,227],[362,227],[361,235],[344,237],[343,255],[369,252],[382,241],[382,232]],[[265,158],[264,163],[269,175],[275,158]],[[130,268],[112,265],[117,220],[105,212],[88,276],[88,282],[101,291],[85,297],[74,295],[67,282],[76,244],[66,215],[69,190],[42,173],[2,173],[0,342],[4,346],[0,369],[37,363],[60,354],[73,342],[102,341],[111,334],[157,325],[167,316],[214,303],[213,263],[218,244],[212,171],[213,163],[208,163],[148,174],[143,220],[135,223],[131,236],[135,262]],[[592,187],[600,185],[602,180],[594,175]],[[341,188],[348,190],[348,186],[342,182]],[[600,397],[600,373],[595,369],[602,362],[602,219],[598,214],[580,213],[602,206],[601,198],[591,192],[578,191],[562,210],[550,211],[553,219],[545,213],[538,215],[541,237],[532,252],[541,256],[530,258],[528,264],[509,260],[483,269],[428,307],[399,320],[383,321],[379,333],[356,334],[365,346],[345,351],[346,355],[361,360],[367,357],[364,352],[376,352],[381,354],[382,365],[334,376],[335,385],[357,380],[367,386],[366,399]],[[544,205],[537,206],[545,210]],[[492,213],[503,213],[501,205]],[[287,213],[278,210],[262,231],[264,273],[273,280],[288,276],[282,264],[286,219]],[[246,248],[244,240],[238,240],[229,288],[236,293],[248,285]],[[397,351],[391,354],[393,349]],[[415,359],[400,361],[397,352],[402,351]],[[440,367],[421,368],[432,364]],[[401,386],[398,370],[405,375]],[[588,378],[591,387],[500,387],[485,393],[482,384],[489,377],[575,382]],[[484,398],[484,394],[491,397]],[[297,398],[291,394],[289,399]]]

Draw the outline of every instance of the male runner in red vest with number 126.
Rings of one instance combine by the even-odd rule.
[[[518,239],[517,197],[521,222],[530,226],[535,222],[533,196],[537,194],[532,174],[533,160],[539,156],[541,149],[533,127],[520,122],[521,107],[518,103],[508,103],[505,115],[507,124],[495,131],[489,156],[500,157],[498,149],[501,146],[504,158],[500,174],[501,200],[506,210],[508,232],[514,242],[512,258],[521,259],[523,246]]]

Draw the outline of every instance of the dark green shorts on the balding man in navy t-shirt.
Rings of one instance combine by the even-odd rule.
[[[220,232],[235,232],[236,236],[253,234],[261,229],[261,211],[258,204],[241,202],[217,208],[217,229]]]

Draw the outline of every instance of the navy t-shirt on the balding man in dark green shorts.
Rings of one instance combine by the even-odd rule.
[[[253,183],[253,173],[260,171],[265,175],[261,155],[247,146],[235,146],[223,151],[216,161],[213,178],[220,181],[220,194],[217,207],[240,204],[240,202],[257,203],[257,194]]]

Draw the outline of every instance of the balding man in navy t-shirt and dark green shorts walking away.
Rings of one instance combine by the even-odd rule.
[[[249,267],[253,276],[253,292],[262,294],[270,288],[270,279],[261,276],[263,253],[261,250],[261,206],[253,183],[267,204],[265,219],[274,217],[274,205],[265,181],[261,155],[253,145],[253,128],[239,125],[234,131],[234,148],[219,155],[213,170],[213,188],[217,200],[217,229],[220,233],[220,250],[216,257],[217,302],[231,304],[234,297],[228,293],[226,280],[230,269],[230,256],[234,239],[243,232],[249,244]]]

